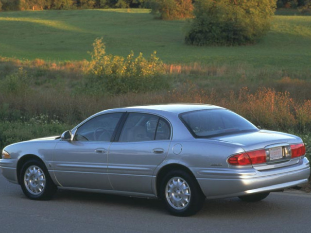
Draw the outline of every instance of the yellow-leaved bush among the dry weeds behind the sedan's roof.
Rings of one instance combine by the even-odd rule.
[[[166,89],[168,82],[164,78],[164,66],[151,54],[149,60],[134,52],[126,57],[106,55],[102,39],[95,39],[91,61],[86,67],[90,75],[86,81],[86,89],[95,95],[120,94],[127,92],[146,92]]]

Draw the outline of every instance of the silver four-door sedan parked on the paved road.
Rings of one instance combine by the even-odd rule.
[[[3,176],[34,200],[57,188],[161,198],[176,216],[204,200],[259,201],[308,182],[302,140],[259,130],[230,110],[203,104],[105,110],[61,136],[9,145]]]

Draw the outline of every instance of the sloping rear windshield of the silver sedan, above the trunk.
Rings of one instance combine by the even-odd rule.
[[[227,109],[187,112],[181,114],[180,118],[195,137],[258,131],[248,120]]]

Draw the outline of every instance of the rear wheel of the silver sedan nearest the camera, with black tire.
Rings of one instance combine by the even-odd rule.
[[[160,197],[174,216],[194,215],[202,208],[206,198],[197,181],[183,170],[173,170],[164,176]]]

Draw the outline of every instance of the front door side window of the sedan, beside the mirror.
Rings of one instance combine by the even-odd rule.
[[[109,142],[121,116],[122,113],[95,116],[77,129],[73,140]]]

